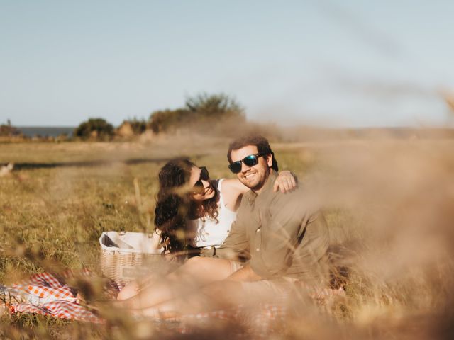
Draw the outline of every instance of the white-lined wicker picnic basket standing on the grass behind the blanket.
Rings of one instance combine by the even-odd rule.
[[[103,232],[99,244],[102,273],[121,285],[162,268],[161,251],[152,234]]]

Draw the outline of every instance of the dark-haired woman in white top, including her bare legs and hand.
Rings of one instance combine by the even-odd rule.
[[[161,233],[162,246],[176,256],[188,253],[190,259],[163,280],[145,278],[126,285],[118,295],[124,307],[142,309],[156,305],[170,299],[174,290],[189,292],[223,280],[240,266],[234,261],[207,256],[216,256],[216,249],[235,220],[241,196],[249,188],[238,179],[210,180],[205,167],[199,168],[188,159],[172,159],[165,164],[159,181],[155,227]],[[282,171],[275,181],[275,191],[286,192],[295,186],[289,171]],[[191,257],[194,254],[204,257]],[[185,276],[190,279],[184,279]]]

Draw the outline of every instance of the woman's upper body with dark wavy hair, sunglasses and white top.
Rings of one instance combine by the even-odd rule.
[[[211,181],[205,167],[173,159],[162,167],[159,182],[155,227],[165,251],[191,257],[220,246],[235,220],[236,200],[243,189],[239,181]]]

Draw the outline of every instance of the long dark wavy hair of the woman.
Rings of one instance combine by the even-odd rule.
[[[161,242],[165,253],[186,254],[187,221],[196,218],[196,205],[191,193],[185,192],[184,185],[189,181],[191,169],[196,166],[186,158],[172,159],[162,166],[159,173],[159,191],[156,196],[155,227],[161,232]],[[183,189],[183,190],[178,190]],[[202,202],[204,216],[218,217],[218,191],[215,196]],[[194,235],[192,235],[194,237]]]

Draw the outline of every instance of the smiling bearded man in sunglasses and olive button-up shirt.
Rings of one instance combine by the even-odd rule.
[[[231,259],[250,259],[228,280],[241,282],[248,296],[287,293],[295,280],[326,283],[328,227],[304,188],[282,194],[272,188],[277,161],[261,136],[235,140],[228,149],[229,168],[245,193],[221,249]]]

